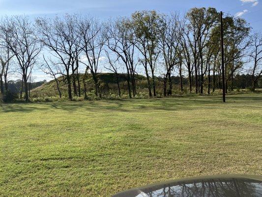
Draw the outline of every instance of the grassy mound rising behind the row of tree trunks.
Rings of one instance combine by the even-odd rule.
[[[83,82],[83,76],[84,74],[79,74],[79,81],[80,81],[80,87],[81,87],[81,92],[84,92],[84,82]],[[98,74],[100,83],[102,84],[102,89],[103,91],[109,91],[109,90],[115,90],[117,91],[117,83],[116,83],[116,74],[115,73],[99,73]],[[126,79],[127,79],[127,74],[119,74],[119,83],[121,89],[125,90],[127,88],[126,86]],[[137,81],[146,81],[146,77],[143,75],[136,75],[136,80]],[[63,77],[58,77],[59,81],[59,89],[62,93],[63,96],[67,96],[67,83],[65,78]],[[87,92],[93,91],[94,84],[93,84],[93,79],[90,73],[87,74],[87,79],[85,80],[86,83],[86,88]],[[77,84],[77,82],[76,82]],[[141,85],[143,85],[142,83]],[[145,83],[146,84],[146,83]],[[144,85],[143,85],[144,86]],[[146,87],[146,86],[145,86]],[[73,87],[72,87],[72,92],[73,92]],[[31,90],[30,92],[31,97],[52,97],[52,96],[58,96],[58,89],[57,89],[57,83],[54,80],[51,80],[49,82],[46,82],[42,84],[39,87],[36,87]]]

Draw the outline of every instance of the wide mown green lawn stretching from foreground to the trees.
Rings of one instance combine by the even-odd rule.
[[[0,105],[1,197],[262,174],[262,94]]]

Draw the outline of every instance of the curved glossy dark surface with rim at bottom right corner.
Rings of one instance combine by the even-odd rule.
[[[220,175],[179,179],[113,197],[262,197],[262,176]]]

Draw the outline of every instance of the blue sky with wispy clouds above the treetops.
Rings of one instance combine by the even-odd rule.
[[[33,19],[37,16],[82,13],[103,20],[128,16],[137,10],[184,13],[192,7],[215,7],[218,11],[243,17],[254,31],[262,32],[262,0],[0,0],[0,15],[26,14]],[[36,80],[48,78],[41,72],[34,74]]]

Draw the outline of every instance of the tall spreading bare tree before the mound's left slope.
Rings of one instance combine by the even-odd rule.
[[[63,19],[57,16],[53,20],[38,18],[36,24],[38,26],[39,39],[49,50],[52,64],[64,68],[58,69],[64,72],[57,74],[66,77],[68,98],[72,100],[71,78],[78,68],[78,66],[75,66],[76,61],[78,61],[76,53],[81,50],[77,34],[78,16],[65,15]]]

